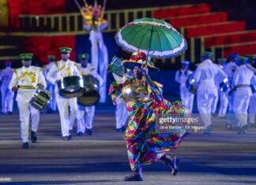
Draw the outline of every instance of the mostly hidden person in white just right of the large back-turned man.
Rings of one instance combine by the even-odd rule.
[[[218,60],[218,64],[220,65],[220,68],[224,69],[227,59],[218,58],[217,60]],[[219,96],[220,96],[220,109],[219,109],[218,117],[225,117],[228,109],[228,96],[226,92],[220,90],[220,80],[216,80],[216,81],[218,83],[217,85],[219,87]]]

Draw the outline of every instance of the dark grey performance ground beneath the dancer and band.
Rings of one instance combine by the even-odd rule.
[[[145,166],[144,182],[129,175],[123,133],[114,113],[96,113],[92,136],[65,142],[58,114],[42,114],[38,143],[21,149],[18,115],[0,115],[0,183],[6,184],[256,184],[256,128],[247,135],[224,130],[213,117],[210,135],[188,135],[172,152],[180,158],[177,176],[162,162]],[[76,129],[75,129],[76,130]]]

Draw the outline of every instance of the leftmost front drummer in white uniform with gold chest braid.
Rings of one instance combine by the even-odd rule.
[[[28,149],[29,117],[32,118],[31,141],[36,142],[36,131],[40,122],[40,111],[34,108],[29,101],[32,99],[36,88],[44,88],[47,83],[44,79],[42,68],[31,66],[33,54],[20,54],[23,67],[14,70],[9,83],[9,89],[17,91],[17,105],[21,121],[22,148]]]

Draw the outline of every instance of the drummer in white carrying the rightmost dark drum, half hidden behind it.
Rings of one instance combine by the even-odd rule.
[[[94,68],[88,60],[90,56],[88,54],[80,54],[79,56],[80,65],[78,66],[78,70],[81,73],[81,76],[91,75],[96,77],[100,82],[100,86],[103,85],[103,80],[100,75],[96,72],[96,68]],[[94,117],[95,106],[79,106],[77,113],[77,135],[82,136],[85,134],[85,131],[88,135],[92,135],[92,121]],[[73,123],[70,123],[70,130],[73,129]]]

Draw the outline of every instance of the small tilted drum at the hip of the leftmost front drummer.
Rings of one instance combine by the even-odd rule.
[[[51,102],[51,98],[51,92],[45,89],[37,88],[32,99],[30,100],[30,103],[33,107],[43,112],[47,108],[47,105]]]

